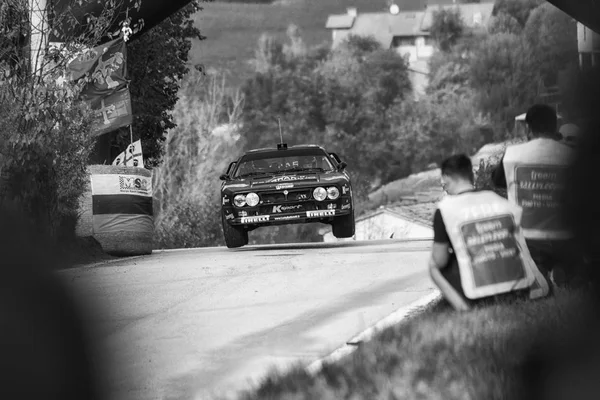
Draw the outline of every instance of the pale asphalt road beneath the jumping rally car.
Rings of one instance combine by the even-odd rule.
[[[110,399],[200,399],[246,388],[272,366],[315,361],[432,293],[429,248],[161,251],[61,274],[90,307]]]

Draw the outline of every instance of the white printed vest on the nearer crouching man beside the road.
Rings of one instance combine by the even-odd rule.
[[[530,288],[548,294],[548,283],[520,232],[521,209],[492,191],[448,196],[439,210],[469,299]]]

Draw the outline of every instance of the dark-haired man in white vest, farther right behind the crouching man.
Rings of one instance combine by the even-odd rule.
[[[523,209],[521,226],[527,246],[544,275],[558,286],[577,283],[585,275],[573,234],[560,207],[567,192],[568,168],[575,150],[557,132],[556,111],[536,104],[525,117],[529,141],[507,147],[494,171],[495,187],[507,189],[508,200]],[[563,127],[568,139],[573,129]]]

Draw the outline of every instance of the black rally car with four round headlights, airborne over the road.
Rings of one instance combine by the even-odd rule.
[[[346,163],[316,145],[251,150],[221,175],[227,247],[248,244],[261,226],[321,222],[338,238],[354,236],[352,185]]]

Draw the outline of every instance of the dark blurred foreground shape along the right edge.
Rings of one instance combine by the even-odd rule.
[[[582,136],[578,155],[568,182],[569,197],[563,214],[569,222],[579,249],[590,265],[586,279],[591,296],[585,307],[571,307],[583,315],[579,326],[565,327],[565,333],[536,338],[537,345],[523,365],[527,383],[524,399],[600,398],[600,73],[588,70],[577,87],[576,114]],[[583,289],[580,289],[583,290]]]

